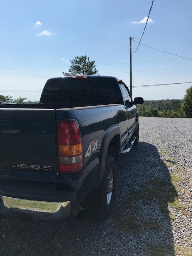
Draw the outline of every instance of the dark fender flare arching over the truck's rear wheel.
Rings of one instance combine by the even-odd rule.
[[[108,131],[105,133],[103,140],[101,142],[101,148],[100,148],[100,170],[99,170],[99,176],[97,179],[97,185],[98,187],[102,180],[105,173],[105,165],[106,165],[106,158],[107,158],[107,151],[109,147],[110,141],[113,139],[114,136],[119,134],[121,136],[121,130],[118,125],[114,125],[111,128],[108,129]],[[121,144],[121,143],[120,143]],[[121,147],[120,147],[121,148]],[[119,148],[119,151],[120,151]]]

